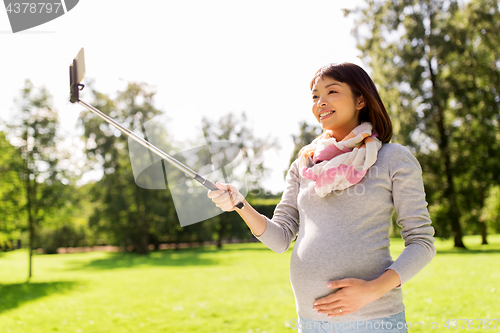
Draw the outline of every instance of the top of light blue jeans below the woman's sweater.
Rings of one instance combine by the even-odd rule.
[[[299,317],[299,333],[407,333],[405,312],[371,320],[317,321]]]

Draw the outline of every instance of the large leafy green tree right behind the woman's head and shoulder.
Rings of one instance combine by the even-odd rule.
[[[366,3],[355,11],[353,31],[391,113],[394,140],[418,155],[438,236],[452,235],[464,247],[461,222],[471,208],[480,216],[484,195],[475,200],[476,194],[485,193],[498,168],[498,92],[491,86],[498,86],[498,6],[489,0],[464,8],[444,0]],[[464,17],[471,23],[459,23]],[[491,47],[478,47],[485,35],[491,42],[483,44]],[[480,156],[488,159],[486,168]]]

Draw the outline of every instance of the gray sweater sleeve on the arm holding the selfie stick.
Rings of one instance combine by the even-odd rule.
[[[300,180],[298,160],[288,170],[286,187],[280,203],[276,206],[273,218],[266,217],[266,229],[260,236],[254,236],[276,253],[283,253],[290,248],[290,244],[299,232],[299,212],[297,210],[297,196]]]

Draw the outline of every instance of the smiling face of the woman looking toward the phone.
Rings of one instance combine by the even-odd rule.
[[[329,77],[318,79],[312,89],[312,111],[323,129],[330,130],[337,141],[359,125],[363,98],[354,101],[351,87]]]

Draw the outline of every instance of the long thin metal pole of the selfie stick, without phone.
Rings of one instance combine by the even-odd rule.
[[[76,89],[78,89],[78,88],[76,88]],[[179,162],[178,160],[176,160],[172,156],[168,155],[163,150],[159,149],[158,147],[156,147],[155,145],[153,145],[149,141],[144,140],[140,136],[137,136],[131,130],[129,130],[129,129],[123,127],[123,126],[121,126],[116,121],[114,121],[112,118],[110,118],[106,114],[102,113],[100,110],[96,109],[92,105],[89,105],[89,104],[83,102],[80,99],[78,99],[78,103],[81,104],[81,105],[83,105],[84,107],[86,107],[87,109],[89,109],[90,111],[92,111],[93,113],[95,113],[96,115],[98,115],[99,117],[101,117],[104,121],[106,121],[110,125],[112,125],[112,126],[116,127],[117,129],[119,129],[123,134],[128,135],[129,137],[131,137],[132,139],[134,139],[135,141],[137,141],[139,144],[141,144],[145,148],[149,149],[150,151],[152,151],[156,155],[160,156],[164,160],[167,160],[170,164],[172,164],[177,169],[181,170],[187,176],[189,176],[190,178],[196,180],[198,183],[200,183],[201,185],[205,186],[209,190],[212,190],[212,191],[217,191],[218,190],[217,186],[215,186],[215,184],[212,183],[210,180],[206,179],[205,177],[200,176],[199,174],[197,174],[196,172],[194,172],[193,170],[191,170],[188,166],[182,164],[181,162]],[[242,202],[238,202],[235,206],[238,207],[239,209],[242,209],[243,206],[244,206],[244,204]]]

